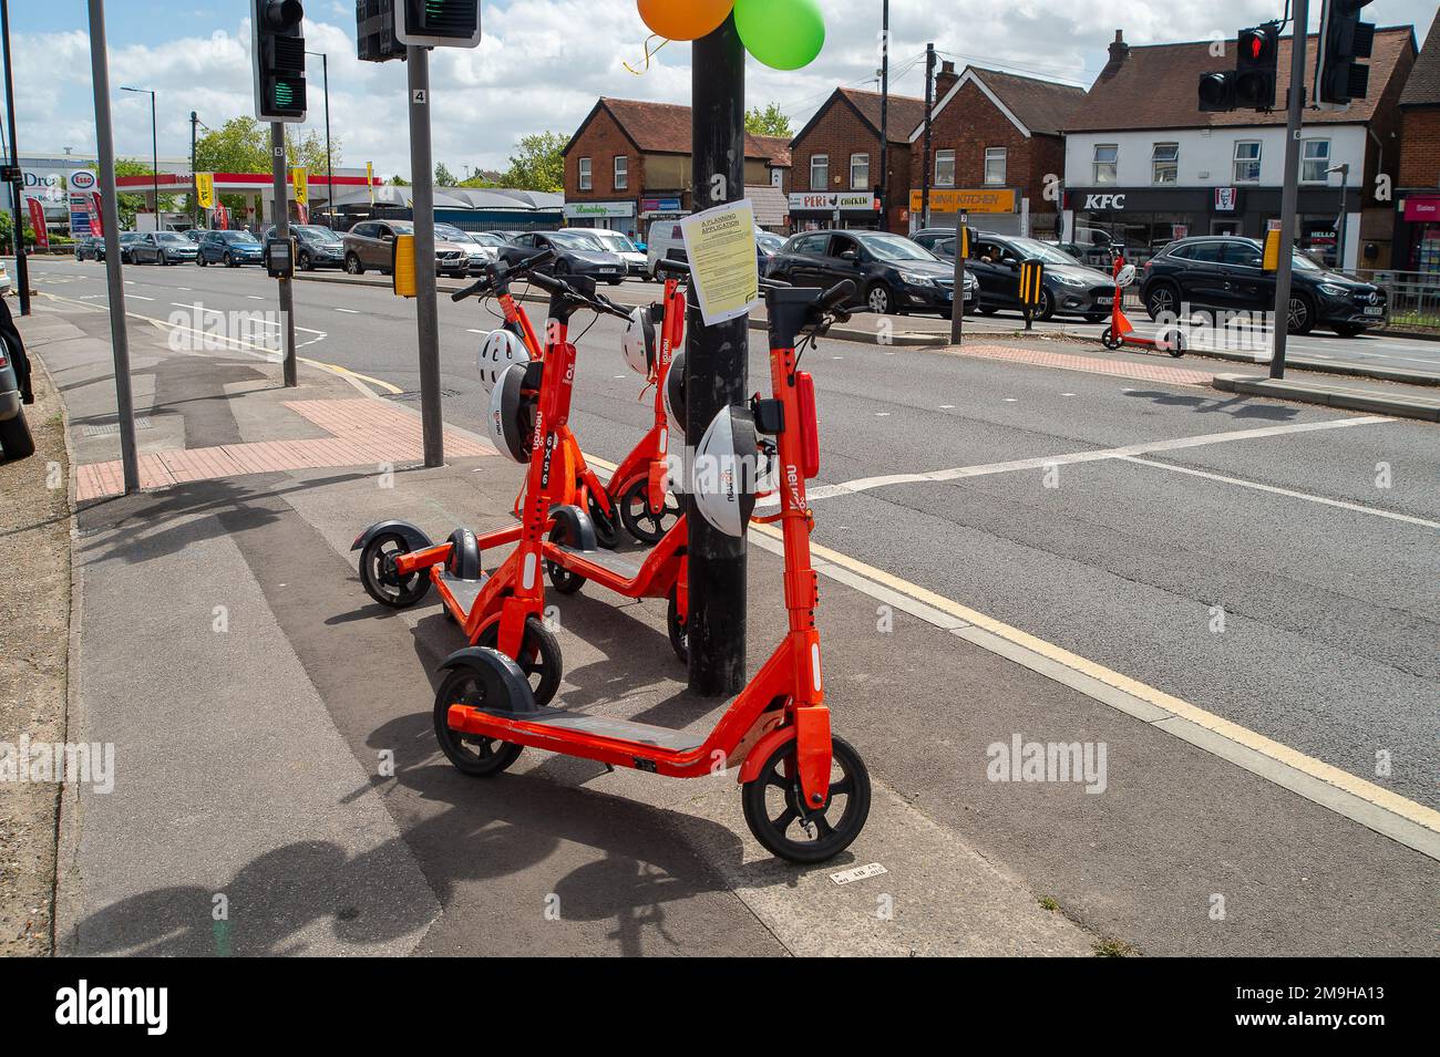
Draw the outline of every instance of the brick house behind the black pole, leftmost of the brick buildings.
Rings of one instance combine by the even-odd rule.
[[[657,220],[691,211],[690,108],[600,98],[564,148],[567,224],[647,239]],[[785,139],[746,137],[746,196],[760,227],[783,230],[789,151]]]

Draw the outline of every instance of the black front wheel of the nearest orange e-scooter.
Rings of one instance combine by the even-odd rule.
[[[792,863],[824,863],[860,836],[870,815],[870,772],[842,738],[831,738],[831,781],[824,807],[801,802],[795,742],[780,745],[759,777],[740,790],[744,821],[768,851]]]

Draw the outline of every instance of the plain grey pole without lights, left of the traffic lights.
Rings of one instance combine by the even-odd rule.
[[[3,3],[3,0],[0,0]],[[125,335],[125,279],[120,265],[120,207],[115,198],[115,139],[109,125],[109,60],[105,58],[105,0],[89,0],[91,85],[95,89],[95,148],[99,163],[99,210],[105,226],[105,288],[109,292],[109,345],[115,358],[115,417],[125,495],[140,490],[135,454],[135,401],[130,391],[130,342]]]

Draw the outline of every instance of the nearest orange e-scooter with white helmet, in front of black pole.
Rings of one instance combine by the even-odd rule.
[[[811,565],[814,515],[805,480],[819,470],[815,387],[796,370],[796,339],[814,342],[844,321],[852,282],[766,292],[773,397],[716,416],[694,453],[690,490],[707,522],[743,535],[755,509],[760,436],[775,437],[782,482],[785,608],[789,627],[760,672],[708,735],[540,706],[524,672],[504,653],[459,650],[445,660],[435,697],[435,733],[464,774],[498,775],[523,746],[674,778],[700,778],[739,767],[742,807],[756,840],[795,863],[822,863],[860,836],[870,814],[864,761],[831,733],[821,674]],[[801,344],[801,349],[805,344]]]

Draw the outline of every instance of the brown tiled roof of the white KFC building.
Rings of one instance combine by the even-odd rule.
[[[1375,30],[1375,49],[1369,59],[1369,95],[1356,99],[1348,111],[1306,111],[1306,125],[1362,124],[1375,112],[1395,66],[1413,55],[1414,33],[1410,26]],[[1270,114],[1231,111],[1202,114],[1198,101],[1200,75],[1234,69],[1234,52],[1217,59],[1211,43],[1143,45],[1130,47],[1119,69],[1090,86],[1084,101],[1064,124],[1067,132],[1132,131],[1145,128],[1205,128],[1234,125],[1283,125],[1284,96],[1290,85],[1290,37],[1280,39],[1280,76],[1276,88],[1277,109]],[[1308,69],[1315,69],[1316,36],[1308,37]]]

